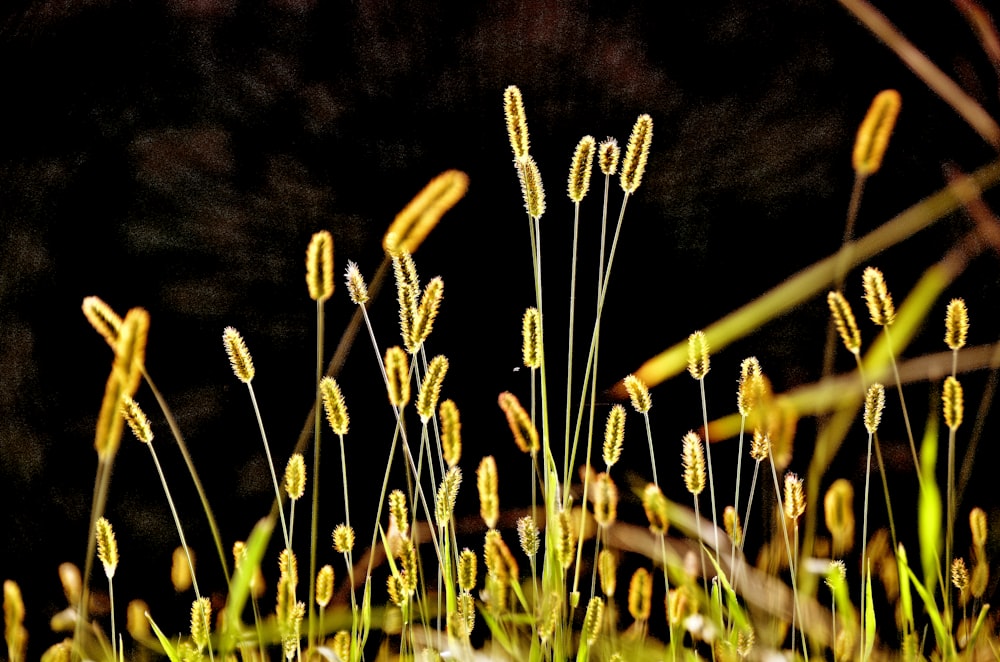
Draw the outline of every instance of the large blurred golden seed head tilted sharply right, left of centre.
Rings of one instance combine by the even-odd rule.
[[[416,253],[441,217],[469,190],[469,176],[461,170],[446,170],[428,182],[403,211],[396,214],[382,247],[392,255],[400,250]]]

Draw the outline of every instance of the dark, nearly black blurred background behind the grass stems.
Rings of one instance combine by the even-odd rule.
[[[507,85],[524,94],[548,195],[556,412],[572,221],[565,180],[584,134],[624,146],[639,113],[654,120],[605,309],[601,387],[838,248],[854,132],[878,91],[898,89],[903,110],[884,170],[867,187],[858,234],[937,190],[945,164],[972,170],[994,156],[838,4],[753,4],[8,3],[0,17],[0,574],[24,591],[29,654],[58,640],[47,628],[62,607],[56,567],[82,566],[86,550],[93,429],[111,355],[80,313],[85,296],[122,314],[149,310],[147,366],[186,435],[228,546],[247,535],[273,492],[248,397],[222,349],[223,327],[237,327],[250,346],[280,472],[313,397],[309,237],[329,229],[335,240],[329,351],[353,312],[339,275],[347,260],[371,278],[395,213],[437,173],[464,170],[468,195],[416,256],[425,280],[440,274],[446,285],[429,352],[451,359],[444,396],[463,414],[463,507],[475,510],[478,458],[495,453],[510,456],[501,464],[501,503],[512,508],[527,502],[527,465],[515,463],[495,401],[506,389],[527,398],[527,373],[515,368],[520,315],[533,292],[503,122]],[[878,5],[1000,114],[996,71],[955,6]],[[599,184],[595,178],[581,224],[581,325],[593,305]],[[619,200],[615,182],[613,209]],[[897,300],[970,227],[956,214],[879,256]],[[984,254],[948,293],[969,303],[971,344],[992,342],[998,331],[998,274],[996,256]],[[847,295],[860,313],[858,281],[852,274]],[[372,316],[381,346],[398,342],[392,297],[378,300]],[[749,354],[778,390],[815,380],[826,319],[817,299],[715,356],[710,413],[735,408],[739,362]],[[940,322],[932,322],[908,354],[942,349]],[[873,329],[863,329],[870,342]],[[371,520],[363,513],[377,499],[391,421],[370,345],[363,336],[359,343],[341,384],[352,414],[353,519],[366,540]],[[838,367],[851,367],[843,353]],[[976,404],[983,381],[966,385]],[[914,388],[917,412],[932,393]],[[224,582],[186,471],[145,387],[138,398],[201,552],[200,581],[218,591]],[[700,424],[697,389],[681,376],[653,398],[661,481],[667,477],[671,497],[686,498],[674,477],[679,440]],[[602,424],[607,408],[602,402],[596,412]],[[924,415],[915,416],[918,428]],[[554,418],[560,438],[562,416]],[[630,422],[624,462],[648,478],[638,421]],[[884,443],[899,451],[893,472],[906,493],[905,441],[900,422],[889,425]],[[808,423],[800,428],[793,468],[808,465],[812,433]],[[854,479],[860,493],[863,432],[855,438],[829,477]],[[335,437],[325,439],[328,532],[343,507]],[[732,442],[717,448],[717,466],[731,466]],[[732,469],[718,471],[717,480]],[[977,489],[960,512],[987,498]],[[166,629],[183,629],[191,598],[174,597],[169,584],[176,534],[148,453],[128,435],[107,515],[122,555],[120,613],[145,597]],[[335,560],[325,549],[321,562]],[[103,577],[93,585],[104,586]]]

